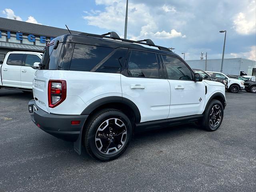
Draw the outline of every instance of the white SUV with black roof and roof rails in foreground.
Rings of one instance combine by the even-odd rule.
[[[63,35],[46,47],[28,104],[39,128],[74,141],[78,154],[83,145],[106,161],[124,152],[134,132],[188,122],[209,131],[220,127],[222,83],[203,80],[151,40],[108,34]]]

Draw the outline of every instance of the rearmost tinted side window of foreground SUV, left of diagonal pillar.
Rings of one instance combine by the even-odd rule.
[[[100,62],[113,50],[113,48],[76,44],[70,64],[70,70],[96,71],[98,70],[98,64],[100,65]]]

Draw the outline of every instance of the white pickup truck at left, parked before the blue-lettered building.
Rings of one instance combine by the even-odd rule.
[[[39,52],[8,52],[0,64],[0,88],[32,91],[34,74],[42,55]]]

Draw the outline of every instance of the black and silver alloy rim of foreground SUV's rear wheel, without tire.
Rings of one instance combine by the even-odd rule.
[[[114,154],[120,151],[127,140],[127,130],[124,122],[118,118],[104,121],[95,136],[97,149],[103,154]]]

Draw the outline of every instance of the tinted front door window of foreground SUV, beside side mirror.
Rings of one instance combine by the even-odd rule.
[[[193,80],[190,69],[178,58],[162,55],[169,79]]]

